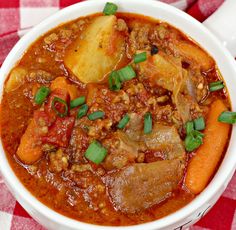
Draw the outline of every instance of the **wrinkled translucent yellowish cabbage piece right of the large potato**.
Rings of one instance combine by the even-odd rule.
[[[140,63],[140,72],[155,86],[172,92],[172,101],[185,123],[191,119],[190,109],[197,105],[196,86],[187,70],[182,68],[181,58],[159,52]]]

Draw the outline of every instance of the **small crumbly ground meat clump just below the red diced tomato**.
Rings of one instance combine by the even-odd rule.
[[[49,153],[49,169],[51,172],[59,173],[68,168],[68,156],[61,149]]]

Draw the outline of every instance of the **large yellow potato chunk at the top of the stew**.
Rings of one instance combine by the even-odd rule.
[[[114,15],[95,18],[72,43],[64,63],[83,83],[101,81],[112,71],[125,51],[125,36],[116,30]]]

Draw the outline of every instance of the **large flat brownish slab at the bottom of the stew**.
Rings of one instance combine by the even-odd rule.
[[[183,176],[182,159],[139,163],[125,167],[106,178],[114,207],[135,213],[158,204],[177,188]]]

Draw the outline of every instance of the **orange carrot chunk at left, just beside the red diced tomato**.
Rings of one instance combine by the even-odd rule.
[[[26,164],[33,164],[42,156],[41,146],[37,144],[37,125],[34,119],[32,119],[21,137],[20,145],[17,149],[17,156]]]

